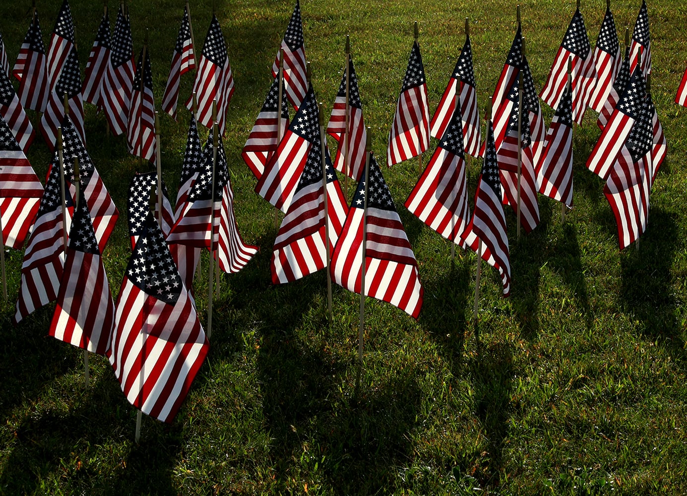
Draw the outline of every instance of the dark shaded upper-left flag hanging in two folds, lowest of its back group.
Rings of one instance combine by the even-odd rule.
[[[50,150],[54,150],[57,143],[57,128],[65,118],[65,93],[69,105],[69,117],[76,128],[79,139],[85,143],[84,131],[84,104],[81,100],[81,74],[79,71],[79,59],[76,47],[71,48],[69,56],[63,65],[60,76],[57,79],[50,98],[45,107],[45,113],[41,118],[41,134]]]

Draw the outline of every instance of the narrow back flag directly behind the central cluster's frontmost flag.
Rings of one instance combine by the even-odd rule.
[[[353,59],[350,55],[348,57],[348,135],[343,139],[346,131],[345,70],[329,117],[327,133],[339,144],[334,158],[334,168],[358,181],[365,168],[365,143],[368,142],[368,131],[363,121],[363,102],[360,100],[358,76],[355,74]]]

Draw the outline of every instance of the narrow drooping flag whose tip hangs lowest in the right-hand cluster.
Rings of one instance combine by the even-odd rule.
[[[484,164],[475,192],[475,210],[462,240],[475,253],[479,253],[482,243],[482,260],[499,271],[506,297],[510,295],[510,259],[506,216],[501,203],[499,164],[494,145],[494,131],[489,122],[486,129]]]

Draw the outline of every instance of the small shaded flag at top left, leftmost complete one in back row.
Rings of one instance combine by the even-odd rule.
[[[47,104],[49,83],[45,45],[41,25],[38,24],[38,14],[34,13],[12,74],[19,79],[17,94],[22,106],[25,109],[43,112]]]

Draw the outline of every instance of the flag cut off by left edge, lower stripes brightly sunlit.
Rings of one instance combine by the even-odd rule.
[[[41,196],[41,181],[0,115],[0,212],[5,246],[23,247]]]

